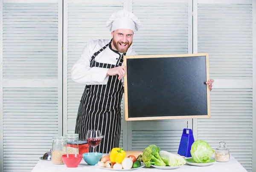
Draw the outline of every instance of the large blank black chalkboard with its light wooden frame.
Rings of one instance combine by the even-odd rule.
[[[210,118],[209,56],[125,56],[125,120]]]

